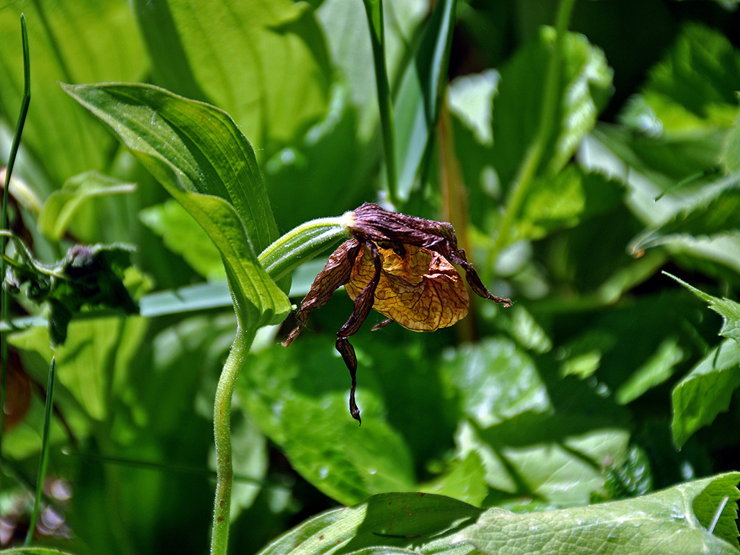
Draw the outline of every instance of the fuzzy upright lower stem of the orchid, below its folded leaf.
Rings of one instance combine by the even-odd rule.
[[[231,522],[231,492],[234,471],[231,448],[231,404],[234,386],[246,354],[255,340],[256,330],[238,326],[236,337],[223,365],[213,406],[213,434],[216,443],[216,498],[213,508],[211,555],[226,555]]]

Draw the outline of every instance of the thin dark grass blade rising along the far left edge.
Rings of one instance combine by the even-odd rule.
[[[13,135],[13,144],[10,146],[10,155],[7,159],[5,169],[5,183],[2,192],[2,206],[0,207],[0,229],[7,229],[7,198],[10,190],[10,176],[13,175],[13,166],[16,165],[16,155],[23,135],[23,127],[26,123],[28,106],[31,102],[31,61],[28,52],[28,30],[26,29],[26,18],[21,13],[21,43],[23,44],[23,99],[21,100],[21,111],[18,115],[16,133]],[[0,255],[5,254],[7,238],[0,237]],[[0,283],[5,280],[5,258],[0,257]],[[8,321],[8,299],[4,287],[0,286],[0,317],[3,322]],[[4,332],[0,332],[0,457],[2,457],[2,436],[5,428],[5,391],[7,389],[7,338]]]

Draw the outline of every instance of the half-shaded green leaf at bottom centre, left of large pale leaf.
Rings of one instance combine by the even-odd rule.
[[[494,509],[495,511],[495,509]],[[432,494],[380,494],[351,508],[338,508],[306,520],[259,555],[349,554],[355,551],[414,549],[422,554],[464,555],[451,534],[481,514],[467,503]],[[385,550],[380,552],[386,552]]]

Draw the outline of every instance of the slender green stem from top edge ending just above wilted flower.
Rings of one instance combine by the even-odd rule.
[[[377,107],[380,111],[380,128],[383,133],[383,153],[386,157],[388,200],[399,206],[398,176],[396,173],[396,132],[391,104],[391,87],[386,70],[386,32],[383,28],[383,0],[363,0],[368,16],[372,58],[375,68]]]

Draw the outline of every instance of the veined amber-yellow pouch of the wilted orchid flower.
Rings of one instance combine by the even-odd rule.
[[[404,245],[402,258],[393,249],[379,247],[383,270],[373,308],[414,332],[451,326],[468,314],[468,293],[460,274],[443,256],[428,249]],[[374,275],[368,249],[363,248],[345,290],[354,299]]]

